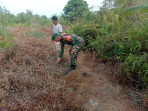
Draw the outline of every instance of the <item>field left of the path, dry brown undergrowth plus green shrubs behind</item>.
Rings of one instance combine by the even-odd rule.
[[[82,75],[61,76],[49,21],[0,7],[0,111],[84,110],[88,86]]]

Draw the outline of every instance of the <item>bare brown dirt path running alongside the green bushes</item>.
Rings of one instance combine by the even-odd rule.
[[[67,56],[68,49],[66,50]],[[88,102],[84,106],[88,111],[142,111],[123,93],[124,89],[113,80],[111,70],[105,64],[95,63],[89,52],[83,51],[77,62],[77,70],[67,76],[78,74],[85,78],[83,83],[89,86],[89,90]]]

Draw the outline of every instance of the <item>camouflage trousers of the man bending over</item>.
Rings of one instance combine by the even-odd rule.
[[[69,55],[71,58],[71,65],[76,66],[76,60],[79,54],[79,51],[82,49],[84,42],[79,43],[79,45],[74,45],[69,50]],[[74,54],[71,54],[72,49],[74,49]]]

